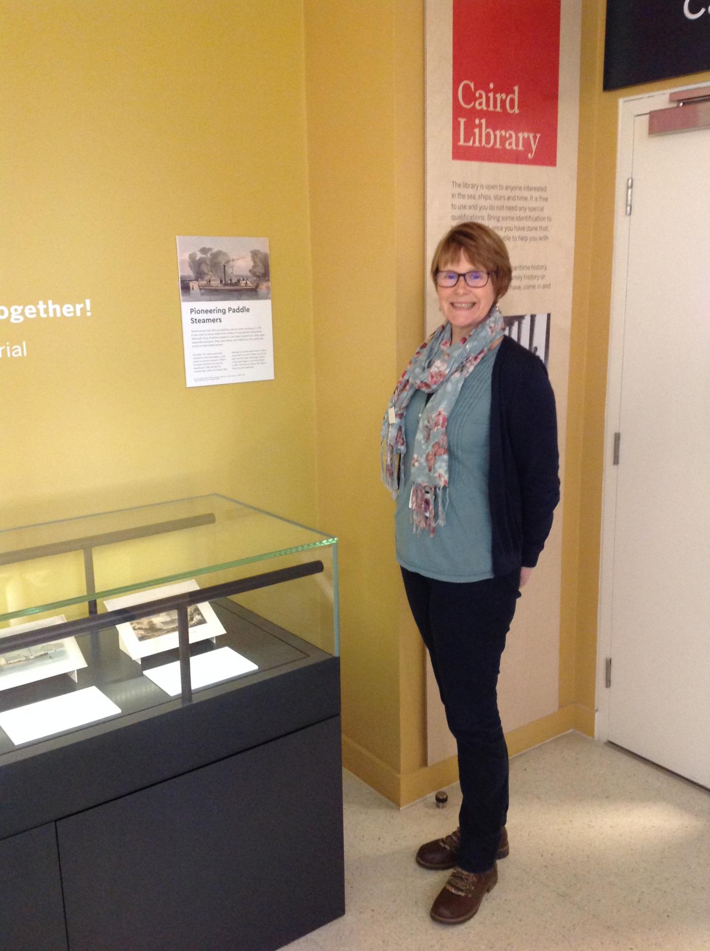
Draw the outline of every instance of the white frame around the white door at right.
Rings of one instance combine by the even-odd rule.
[[[619,100],[616,184],[614,191],[614,252],[611,270],[609,351],[604,412],[604,479],[602,487],[602,541],[597,617],[597,703],[594,735],[606,741],[609,731],[609,690],[606,658],[611,656],[611,618],[614,580],[614,531],[618,466],[614,465],[614,434],[620,429],[624,320],[630,216],[626,215],[626,180],[633,167],[634,121],[652,109],[668,107],[668,95],[681,89],[707,87],[707,83],[682,84],[661,92],[627,96]],[[633,207],[633,201],[632,201]],[[612,668],[613,670],[613,668]],[[613,676],[613,672],[612,672]]]

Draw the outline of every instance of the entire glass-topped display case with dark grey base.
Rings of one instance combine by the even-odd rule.
[[[39,871],[30,879],[56,892],[47,902],[56,921],[42,923],[42,934],[60,937],[48,947],[113,947],[104,933],[113,914],[116,947],[212,946],[203,910],[223,875],[235,874],[233,857],[224,867],[209,849],[200,857],[218,826],[235,855],[250,837],[259,841],[255,874],[288,872],[304,889],[284,881],[292,905],[269,921],[253,889],[245,883],[241,895],[235,883],[231,910],[215,905],[216,935],[225,914],[241,929],[243,945],[230,946],[278,947],[342,914],[338,654],[336,538],[223,495],[0,532],[0,887],[22,887],[23,863],[44,868],[46,879]],[[235,811],[224,770],[244,774],[256,796],[289,763],[269,792],[282,815],[264,825],[259,810]],[[209,799],[209,818],[196,825],[176,806],[165,825],[187,777]],[[293,811],[331,829],[305,876],[284,859],[284,843],[301,855],[316,847]],[[156,813],[162,833],[151,835]],[[153,945],[136,863],[179,864],[176,843],[198,826],[191,858],[209,871],[200,885],[171,871],[148,928]],[[50,867],[35,855],[45,834]],[[121,853],[121,869],[106,869],[106,849]],[[194,932],[184,889],[201,895]],[[330,898],[309,910],[314,889]],[[2,946],[27,938],[17,922],[0,923]]]

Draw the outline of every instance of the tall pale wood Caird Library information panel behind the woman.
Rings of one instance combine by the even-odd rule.
[[[507,335],[546,364],[564,466],[577,183],[581,0],[426,0],[427,260],[457,222],[506,243]],[[441,323],[427,281],[427,330]],[[516,612],[499,700],[506,730],[555,715],[562,511]],[[455,753],[427,682],[428,762]]]

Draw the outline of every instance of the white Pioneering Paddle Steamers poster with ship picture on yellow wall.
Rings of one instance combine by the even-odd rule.
[[[268,238],[178,238],[187,386],[274,378]]]

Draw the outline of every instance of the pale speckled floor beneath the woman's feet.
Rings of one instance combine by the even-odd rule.
[[[614,747],[567,733],[511,761],[510,855],[456,926],[430,919],[447,873],[414,852],[457,825],[458,786],[400,811],[343,782],[347,911],[289,951],[710,949],[710,794]]]

